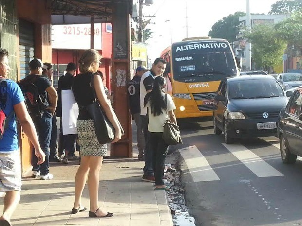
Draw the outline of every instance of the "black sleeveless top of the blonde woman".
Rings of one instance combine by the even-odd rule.
[[[94,102],[94,90],[90,86],[92,73],[78,74],[74,77],[72,90],[79,108],[77,119],[92,119],[86,106]]]

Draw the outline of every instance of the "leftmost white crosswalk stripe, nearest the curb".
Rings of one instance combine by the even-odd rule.
[[[195,145],[180,149],[179,152],[184,158],[194,182],[220,180]]]

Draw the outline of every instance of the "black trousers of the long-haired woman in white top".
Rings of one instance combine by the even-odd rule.
[[[169,145],[163,139],[163,133],[149,132],[150,148],[153,150],[152,166],[155,177],[155,185],[164,185],[163,176],[165,159]]]

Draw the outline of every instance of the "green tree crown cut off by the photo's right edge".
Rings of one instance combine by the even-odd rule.
[[[302,9],[275,25],[278,37],[290,45],[302,46]]]

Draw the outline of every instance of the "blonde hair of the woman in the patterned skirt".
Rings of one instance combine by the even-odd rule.
[[[94,73],[93,63],[102,58],[101,54],[93,49],[86,50],[79,60],[79,70],[81,73]]]

